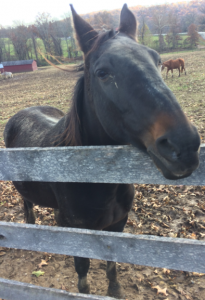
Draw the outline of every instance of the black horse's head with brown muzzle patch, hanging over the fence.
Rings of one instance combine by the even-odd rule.
[[[159,54],[137,43],[133,13],[125,4],[119,30],[98,33],[71,10],[85,57],[88,144],[141,147],[166,178],[189,176],[199,164],[199,134],[160,75]]]

